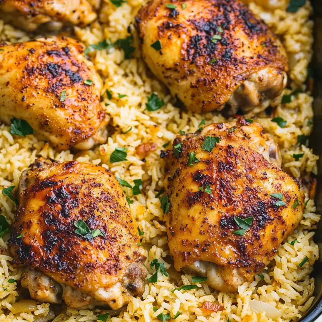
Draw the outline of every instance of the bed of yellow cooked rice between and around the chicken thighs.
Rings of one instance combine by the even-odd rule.
[[[106,38],[112,42],[118,38],[128,36],[127,27],[142,4],[142,0],[128,0],[116,8],[109,0],[104,0],[100,13],[99,22],[94,22],[86,28],[74,29],[76,36],[86,45],[98,43]],[[260,0],[257,1],[260,3]],[[285,128],[280,128],[276,123],[271,122],[271,116],[265,113],[255,119],[260,122],[265,130],[277,140],[283,157],[283,168],[296,178],[308,179],[310,174],[317,174],[317,159],[312,150],[299,146],[297,136],[300,134],[309,135],[312,130],[312,97],[305,87],[307,79],[308,64],[311,59],[312,45],[312,21],[308,20],[311,14],[309,1],[296,13],[288,13],[283,7],[269,11],[255,3],[250,3],[250,8],[280,36],[290,61],[289,77],[292,80],[293,89],[301,88],[300,93],[288,104],[280,104],[281,96],[272,103],[275,116],[287,120]],[[167,94],[165,87],[154,79],[140,59],[140,52],[134,33],[134,46],[137,48],[135,58],[124,60],[124,52],[117,48],[111,50],[92,51],[90,59],[94,62],[104,80],[104,89],[113,94],[109,100],[106,94],[103,95],[102,107],[112,117],[112,125],[115,132],[103,144],[91,151],[71,151],[57,153],[48,144],[38,141],[33,136],[13,137],[9,127],[0,123],[0,213],[5,215],[8,222],[12,222],[15,212],[15,204],[6,196],[1,194],[5,187],[18,185],[21,172],[26,169],[38,156],[54,158],[59,161],[76,159],[80,162],[101,164],[109,168],[114,174],[127,180],[133,185],[134,179],[142,178],[147,184],[145,194],[131,195],[131,190],[125,188],[125,193],[134,203],[131,204],[131,211],[138,221],[139,227],[144,231],[143,245],[147,248],[147,277],[153,274],[149,263],[157,258],[164,261],[169,272],[169,277],[159,274],[158,282],[149,283],[146,281],[145,292],[141,298],[133,298],[132,302],[121,310],[116,317],[108,321],[159,321],[157,315],[170,313],[174,317],[177,311],[182,314],[176,318],[180,321],[230,321],[255,322],[271,321],[266,317],[265,312],[255,313],[249,306],[251,299],[258,299],[269,303],[282,312],[277,321],[290,321],[301,317],[312,304],[314,297],[314,279],[310,277],[314,261],[318,258],[318,246],[313,241],[316,224],[320,216],[315,213],[316,208],[312,190],[303,188],[306,191],[306,207],[303,220],[297,229],[279,247],[274,260],[263,270],[264,280],[256,276],[251,283],[244,283],[236,293],[217,292],[209,289],[205,283],[197,284],[199,288],[178,291],[171,290],[177,285],[190,284],[191,276],[175,274],[172,265],[166,262],[169,254],[167,246],[166,227],[162,225],[163,213],[160,209],[159,199],[155,197],[157,191],[162,188],[163,162],[159,154],[162,145],[175,138],[179,130],[193,132],[198,128],[200,121],[205,118],[206,124],[225,119],[216,113],[195,114],[184,112],[175,107],[175,99]],[[0,21],[0,40],[24,41],[29,35],[5,25]],[[164,99],[166,105],[155,112],[148,112],[145,109],[146,96],[156,92]],[[289,94],[291,90],[284,90],[283,94]],[[125,94],[119,99],[118,94]],[[105,104],[106,103],[106,104]],[[109,104],[109,105],[107,105]],[[107,106],[106,106],[107,105]],[[122,132],[132,127],[126,134]],[[145,142],[155,142],[156,151],[148,154],[145,162],[136,154],[135,148]],[[126,147],[128,161],[109,163],[109,155],[115,147]],[[293,153],[304,153],[299,161],[294,161]],[[310,199],[310,200],[309,200]],[[6,253],[6,238],[0,238],[2,247],[0,255],[0,321],[34,321],[43,320],[50,312],[49,304],[37,305],[36,309],[29,312],[13,314],[12,305],[19,300],[17,283],[9,283],[13,278],[20,279],[19,270],[11,266],[12,258]],[[6,239],[5,239],[6,238]],[[294,246],[288,241],[298,240]],[[301,260],[307,256],[308,262],[303,267],[298,267]],[[168,257],[167,257],[168,259]],[[174,283],[179,278],[179,283]],[[178,281],[178,280],[177,280]],[[207,315],[200,308],[204,301],[217,301],[223,305],[224,311],[213,312]],[[153,306],[158,308],[156,312]],[[97,315],[105,313],[99,309],[75,310],[61,308],[62,314],[55,320],[60,321],[95,321]],[[56,313],[57,314],[57,313]]]

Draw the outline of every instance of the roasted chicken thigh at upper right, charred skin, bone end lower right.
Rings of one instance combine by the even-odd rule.
[[[285,50],[238,1],[151,0],[136,21],[143,59],[189,110],[247,111],[286,86]]]

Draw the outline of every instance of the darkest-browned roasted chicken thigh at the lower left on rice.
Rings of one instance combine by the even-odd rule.
[[[143,294],[146,252],[109,170],[41,158],[19,191],[9,249],[33,299],[117,309]]]

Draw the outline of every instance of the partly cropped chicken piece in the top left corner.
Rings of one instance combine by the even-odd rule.
[[[43,24],[59,30],[65,24],[90,24],[97,14],[87,0],[1,0],[0,18],[27,31]]]

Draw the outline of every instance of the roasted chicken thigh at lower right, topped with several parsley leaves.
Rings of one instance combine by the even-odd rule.
[[[260,273],[303,216],[298,184],[277,167],[278,147],[262,131],[244,118],[211,124],[165,153],[175,269],[207,276],[220,291]]]

